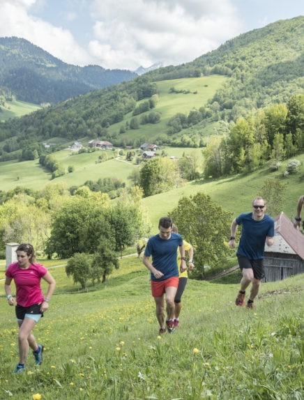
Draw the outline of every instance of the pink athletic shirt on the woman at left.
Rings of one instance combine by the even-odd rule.
[[[6,276],[14,279],[17,305],[29,307],[43,302],[40,279],[46,273],[47,268],[38,263],[31,264],[26,270],[22,270],[18,263],[10,264]]]

